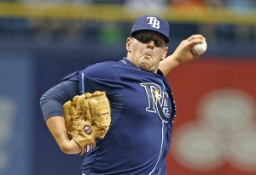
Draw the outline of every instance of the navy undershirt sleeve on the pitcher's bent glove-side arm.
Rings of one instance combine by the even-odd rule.
[[[79,82],[64,81],[50,88],[40,99],[44,120],[51,116],[64,116],[63,104],[79,94]]]

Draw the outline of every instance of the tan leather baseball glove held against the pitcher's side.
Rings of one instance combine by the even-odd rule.
[[[96,138],[104,138],[111,121],[110,104],[105,92],[84,93],[63,105],[67,134],[84,152],[96,147]]]

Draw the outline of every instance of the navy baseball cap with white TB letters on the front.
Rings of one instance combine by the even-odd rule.
[[[166,43],[170,42],[169,38],[169,23],[166,20],[161,19],[154,15],[139,16],[131,28],[131,37],[137,31],[156,31],[160,33],[166,40]]]

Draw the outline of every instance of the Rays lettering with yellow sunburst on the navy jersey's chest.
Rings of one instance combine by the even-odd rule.
[[[157,113],[164,122],[170,121],[170,99],[168,93],[162,91],[159,85],[150,82],[141,83],[148,95],[148,112]]]

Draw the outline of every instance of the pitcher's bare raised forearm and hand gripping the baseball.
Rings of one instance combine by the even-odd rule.
[[[166,76],[170,71],[176,68],[178,65],[189,62],[193,59],[200,57],[198,54],[193,54],[191,48],[197,43],[202,43],[206,38],[202,35],[192,35],[189,38],[180,42],[173,54],[166,57],[166,59],[160,61],[159,69]]]

